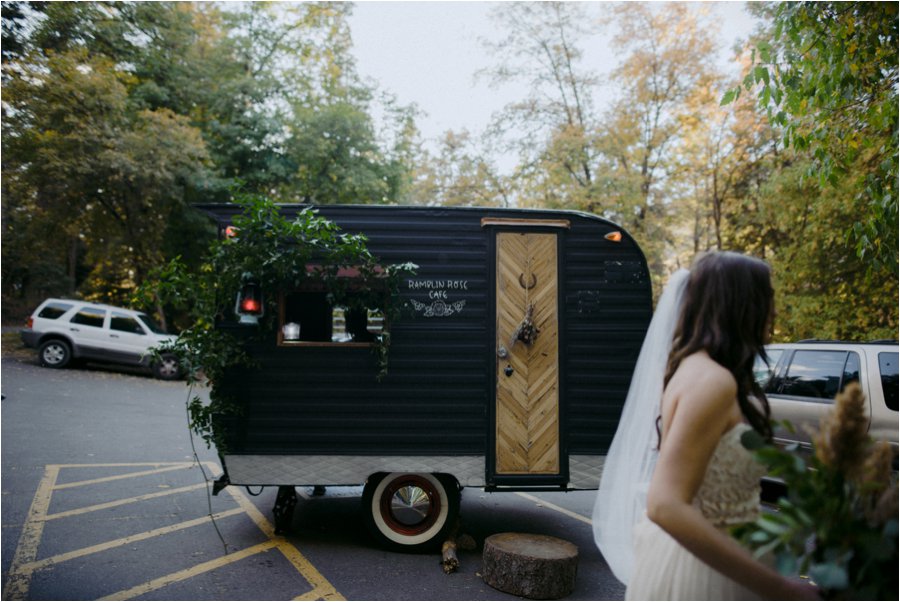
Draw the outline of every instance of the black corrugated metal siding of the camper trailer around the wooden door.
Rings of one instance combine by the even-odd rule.
[[[220,219],[235,208],[206,207]],[[283,209],[287,214],[295,206]],[[618,423],[650,318],[650,280],[640,250],[598,218],[558,212],[384,206],[323,206],[347,232],[363,232],[382,263],[412,261],[415,280],[465,281],[449,290],[463,309],[447,317],[406,312],[392,325],[389,373],[376,382],[368,349],[257,343],[263,368],[228,387],[247,403],[231,453],[484,454],[494,400],[494,316],[489,256],[493,230],[481,218],[565,217],[560,231],[563,446],[603,453]],[[637,277],[635,277],[637,275]],[[428,289],[401,288],[429,302]]]

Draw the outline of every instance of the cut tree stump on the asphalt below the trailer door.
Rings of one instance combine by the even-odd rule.
[[[498,533],[484,540],[481,574],[495,589],[537,600],[575,589],[578,548],[548,535]]]

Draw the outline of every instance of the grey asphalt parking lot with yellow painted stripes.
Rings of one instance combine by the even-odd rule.
[[[183,383],[4,355],[3,599],[512,600],[480,574],[484,539],[510,531],[578,546],[566,599],[624,594],[593,544],[593,492],[465,489],[461,530],[478,547],[450,575],[439,555],[379,548],[358,487],[298,489],[292,529],[276,536],[274,488],[208,495],[200,468],[217,476],[218,458],[193,457]]]

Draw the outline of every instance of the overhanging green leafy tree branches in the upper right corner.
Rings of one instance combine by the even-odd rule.
[[[848,222],[870,266],[896,270],[898,212],[898,19],[895,2],[760,5],[771,35],[756,44],[744,87],[785,146],[808,150],[807,175],[823,188],[852,177],[865,199]],[[737,87],[723,102],[741,93]]]

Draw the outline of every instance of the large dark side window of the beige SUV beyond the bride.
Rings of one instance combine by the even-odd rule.
[[[859,355],[847,351],[799,350],[779,383],[779,393],[834,401],[844,386],[859,380]]]

